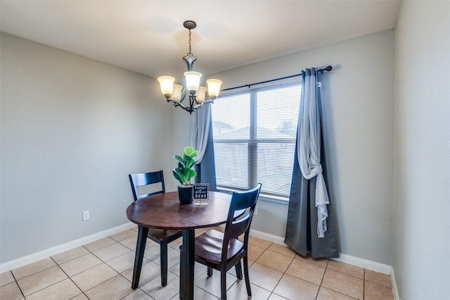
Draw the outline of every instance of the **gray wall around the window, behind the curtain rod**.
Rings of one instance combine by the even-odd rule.
[[[333,65],[323,80],[330,199],[340,252],[390,265],[394,179],[394,32],[380,32],[216,75],[224,87]],[[176,113],[177,115],[177,113]],[[188,118],[179,113],[179,118]],[[179,120],[179,123],[183,121]],[[187,122],[185,124],[188,124]],[[174,133],[180,144],[188,143]],[[284,237],[286,204],[259,201],[252,228]]]

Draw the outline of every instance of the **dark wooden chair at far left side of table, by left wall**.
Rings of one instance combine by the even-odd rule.
[[[165,193],[164,174],[162,170],[150,173],[130,174],[129,182],[133,191],[134,201],[142,199],[154,194]],[[160,189],[153,190],[150,193],[139,194],[138,187],[146,187],[150,185],[160,184]],[[146,191],[148,192],[148,191]],[[161,261],[161,285],[167,285],[167,244],[173,242],[182,236],[180,230],[158,230],[148,228],[147,237],[154,242],[160,244],[160,261]]]

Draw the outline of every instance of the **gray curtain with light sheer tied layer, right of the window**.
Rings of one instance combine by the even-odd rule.
[[[302,256],[309,252],[313,258],[332,258],[339,251],[332,201],[326,191],[319,76],[315,68],[302,71],[285,244]]]

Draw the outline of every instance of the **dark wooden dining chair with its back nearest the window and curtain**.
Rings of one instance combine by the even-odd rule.
[[[221,272],[221,299],[226,300],[226,272],[236,266],[236,273],[240,273],[240,260],[243,259],[245,287],[248,296],[252,296],[248,277],[248,237],[253,213],[258,200],[261,183],[257,187],[245,192],[233,192],[231,204],[226,220],[225,231],[207,230],[195,237],[195,261],[207,266],[207,275],[212,270]],[[245,209],[245,213],[235,218],[236,211]],[[238,237],[244,234],[243,242]],[[238,275],[242,279],[242,275]]]

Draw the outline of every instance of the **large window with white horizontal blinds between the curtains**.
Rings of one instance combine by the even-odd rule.
[[[221,96],[212,106],[217,187],[288,197],[301,85]]]

